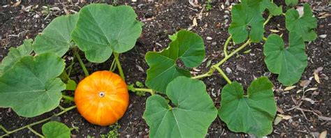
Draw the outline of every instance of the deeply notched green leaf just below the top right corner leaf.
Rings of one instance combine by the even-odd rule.
[[[284,47],[283,39],[272,34],[265,42],[263,54],[270,72],[279,74],[278,80],[285,86],[299,82],[304,68],[307,67],[307,55],[304,41],[297,33],[290,33],[289,46]]]

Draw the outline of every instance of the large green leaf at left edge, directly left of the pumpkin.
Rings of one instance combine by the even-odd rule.
[[[66,89],[57,78],[64,66],[64,60],[55,54],[24,56],[0,77],[0,107],[11,107],[24,117],[50,112]]]

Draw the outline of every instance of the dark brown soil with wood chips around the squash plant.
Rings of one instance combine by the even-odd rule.
[[[2,5],[0,7],[0,61],[8,53],[10,47],[17,47],[22,44],[25,38],[34,38],[39,32],[50,23],[54,17],[64,15],[64,8],[72,13],[72,10],[78,11],[80,7],[87,3],[21,3],[20,6]],[[122,3],[123,4],[123,3]],[[138,14],[138,19],[145,23],[143,26],[142,35],[138,39],[135,47],[129,52],[121,55],[121,63],[126,75],[126,82],[134,84],[135,82],[145,82],[146,70],[148,69],[145,62],[145,53],[149,51],[160,51],[168,46],[170,40],[168,35],[175,33],[179,29],[188,29],[192,24],[193,17],[196,17],[202,8],[193,7],[189,3],[127,3],[133,6]],[[228,7],[223,3],[213,3],[212,10],[203,10],[203,17],[198,20],[198,26],[194,26],[191,31],[198,33],[205,40],[206,60],[201,66],[192,70],[194,75],[200,75],[209,70],[210,63],[217,63],[223,58],[223,45],[228,38],[228,26],[230,24],[230,14]],[[29,11],[24,11],[24,8],[31,6]],[[59,10],[52,10],[50,15],[45,13],[43,6],[50,8],[58,7]],[[324,9],[323,6],[314,4],[314,14],[316,17],[321,17],[325,14],[331,14],[330,9]],[[23,10],[22,10],[23,9]],[[285,9],[285,6],[284,6]],[[270,29],[279,30],[278,34],[284,33],[286,38],[287,33],[284,24],[284,16],[273,17],[266,26],[265,36],[271,33]],[[307,85],[309,88],[317,88],[314,91],[303,93],[300,83],[295,84],[295,89],[284,91],[285,86],[277,81],[277,75],[270,74],[263,61],[263,43],[252,44],[243,49],[239,54],[229,59],[221,66],[226,70],[228,77],[243,84],[247,89],[249,84],[256,77],[267,76],[274,84],[274,95],[279,107],[277,114],[292,116],[288,120],[282,120],[277,125],[274,125],[274,130],[270,137],[317,137],[320,132],[328,130],[331,132],[331,122],[318,116],[331,116],[331,81],[322,77],[331,77],[331,18],[330,16],[318,19],[318,27],[316,32],[318,36],[327,35],[326,38],[317,38],[311,43],[307,43],[307,55],[309,63],[305,69],[301,80],[310,80]],[[211,37],[212,40],[207,37]],[[235,49],[238,45],[231,43],[228,50]],[[251,50],[245,54],[244,51]],[[82,53],[81,53],[82,54]],[[64,59],[72,54],[69,52]],[[84,54],[82,54],[83,56]],[[84,60],[90,72],[96,70],[108,70],[111,59],[105,63],[95,64]],[[82,79],[82,70],[78,63],[75,64],[75,74],[73,79]],[[314,79],[314,70],[323,67],[319,72],[321,84],[318,84]],[[219,75],[213,75],[203,79],[207,85],[207,92],[214,100],[217,108],[219,108],[220,91],[226,81]],[[307,81],[306,81],[307,82]],[[68,92],[73,95],[73,92]],[[142,118],[145,110],[146,96],[138,96],[130,93],[130,105],[124,117],[119,120],[119,133],[121,137],[147,137],[149,128]],[[316,102],[300,100],[304,96]],[[300,109],[307,109],[306,112],[301,112],[300,109],[291,109],[299,105]],[[69,107],[72,104],[61,102],[63,107]],[[299,107],[299,106],[297,106]],[[290,110],[289,110],[290,109]],[[308,111],[308,112],[307,112]],[[34,118],[22,118],[17,116],[11,109],[0,109],[0,125],[3,125],[8,130],[20,128],[23,125],[39,121],[60,112],[59,109],[54,109],[52,112],[37,116]],[[315,113],[315,114],[314,114]],[[316,113],[318,113],[316,115]],[[68,127],[78,128],[72,131],[72,137],[100,137],[101,134],[107,134],[110,131],[109,127],[101,127],[91,125],[80,116],[77,110],[72,110],[59,117],[53,119],[66,123]],[[330,118],[329,118],[330,119]],[[41,125],[35,125],[34,130],[41,132]],[[0,131],[0,135],[5,134]],[[251,135],[243,133],[230,132],[226,128],[226,124],[221,119],[216,120],[209,127],[207,137],[250,137]],[[10,137],[36,137],[31,131],[25,129],[15,132]]]

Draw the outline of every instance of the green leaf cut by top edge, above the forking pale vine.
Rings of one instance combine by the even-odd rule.
[[[261,1],[242,0],[242,3],[233,6],[231,10],[232,22],[228,31],[233,36],[235,43],[244,42],[248,36],[254,43],[260,42],[263,38],[265,19],[260,12]]]

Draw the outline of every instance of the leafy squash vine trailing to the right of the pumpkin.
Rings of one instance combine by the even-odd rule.
[[[295,8],[290,8],[294,3],[288,3],[286,13],[270,0],[242,0],[233,6],[232,22],[228,29],[230,36],[223,46],[225,57],[203,75],[192,77],[187,70],[199,66],[205,58],[203,39],[195,33],[178,31],[170,36],[172,42],[169,47],[161,52],[147,52],[145,60],[149,69],[146,86],[149,89],[133,86],[129,86],[129,89],[152,94],[147,98],[143,115],[149,125],[149,136],[205,137],[216,114],[233,132],[245,132],[258,137],[269,135],[277,112],[272,82],[267,77],[259,77],[251,82],[247,94],[244,94],[243,86],[239,82],[232,82],[220,66],[249,44],[264,40],[263,54],[268,70],[278,74],[278,80],[284,86],[297,83],[307,67],[304,42],[316,39],[316,18],[307,3],[300,17]],[[263,13],[266,9],[269,16],[265,20]],[[287,47],[282,35],[264,36],[267,22],[273,16],[280,15],[286,19],[289,33]],[[231,40],[235,44],[243,44],[228,53]],[[178,60],[182,61],[185,68],[177,66]],[[218,112],[206,93],[205,84],[196,80],[210,77],[215,71],[228,82],[221,91]]]

